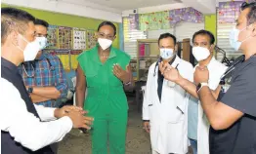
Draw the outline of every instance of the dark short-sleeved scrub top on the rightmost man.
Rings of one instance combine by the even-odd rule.
[[[231,87],[220,99],[224,104],[243,113],[230,128],[210,129],[211,154],[256,153],[256,56],[235,66]]]

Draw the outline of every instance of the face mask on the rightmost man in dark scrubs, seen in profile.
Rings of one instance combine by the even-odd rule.
[[[248,25],[250,26],[250,25]],[[235,49],[235,51],[238,51],[240,49],[240,46],[241,46],[241,43],[246,41],[248,38],[250,37],[247,37],[246,39],[244,39],[243,41],[238,41],[238,38],[239,38],[239,33],[243,30],[245,30],[248,26],[246,26],[245,28],[243,28],[242,30],[239,30],[237,28],[233,28],[232,31],[231,31],[231,34],[230,34],[230,44],[232,46],[232,48]]]

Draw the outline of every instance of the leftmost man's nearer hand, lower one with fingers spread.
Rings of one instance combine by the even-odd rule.
[[[73,128],[75,129],[83,128],[90,130],[92,122],[94,121],[94,118],[84,116],[83,114],[77,111],[70,111],[67,113],[67,116],[72,120]]]

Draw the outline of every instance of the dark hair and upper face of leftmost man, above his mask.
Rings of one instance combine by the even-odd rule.
[[[25,11],[9,7],[1,8],[1,43],[5,42],[12,30],[23,34],[29,21],[34,22],[35,18]]]

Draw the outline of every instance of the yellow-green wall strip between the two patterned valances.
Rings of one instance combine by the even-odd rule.
[[[217,40],[217,19],[216,19],[216,15],[215,14],[205,15],[204,16],[204,21],[205,21],[204,22],[205,30],[211,31],[215,36],[215,40]]]

